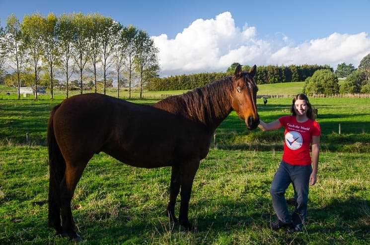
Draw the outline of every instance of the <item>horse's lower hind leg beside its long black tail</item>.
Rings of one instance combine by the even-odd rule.
[[[83,169],[85,168],[87,161],[69,164],[67,163],[65,178],[62,182],[62,193],[61,193],[61,213],[62,213],[62,230],[63,233],[68,235],[70,239],[76,239],[77,228],[74,225],[74,220],[71,210],[71,201],[74,194],[74,189],[80,179]]]

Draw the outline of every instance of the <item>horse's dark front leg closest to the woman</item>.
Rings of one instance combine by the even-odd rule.
[[[185,227],[188,231],[194,230],[195,227],[189,222],[189,201],[195,173],[199,167],[199,161],[184,164],[180,171],[180,184],[181,184],[181,204],[179,211],[179,223]]]

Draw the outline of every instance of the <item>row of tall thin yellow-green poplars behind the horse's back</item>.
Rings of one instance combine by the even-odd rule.
[[[76,77],[80,93],[91,78],[97,92],[98,77],[102,77],[104,93],[107,79],[115,78],[118,97],[126,82],[130,97],[134,81],[142,97],[145,82],[158,77],[158,52],[146,31],[98,13],[35,13],[25,15],[22,22],[12,14],[0,29],[1,77],[18,88],[18,98],[24,85],[34,91],[47,86],[52,98],[54,88],[64,85],[68,97],[71,80]],[[12,72],[5,74],[6,70]],[[57,77],[65,82],[59,83]],[[35,95],[37,99],[37,92]]]

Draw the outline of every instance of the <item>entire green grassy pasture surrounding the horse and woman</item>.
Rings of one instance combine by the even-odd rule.
[[[266,122],[275,120],[289,114],[291,101],[269,99],[263,106],[259,99],[259,114]],[[0,244],[68,243],[47,228],[46,125],[60,102],[0,100]],[[168,223],[170,168],[134,168],[99,154],[87,164],[72,201],[79,244],[370,243],[370,99],[310,102],[318,108],[323,135],[318,183],[310,188],[303,232],[268,229],[276,219],[269,188],[282,156],[283,132],[247,131],[232,112],[217,129],[216,144],[194,180],[189,218],[197,232]],[[287,197],[292,196],[290,187]]]

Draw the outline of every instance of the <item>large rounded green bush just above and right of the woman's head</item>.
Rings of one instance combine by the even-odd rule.
[[[331,70],[318,70],[306,79],[303,93],[336,94],[339,92],[338,78]]]

